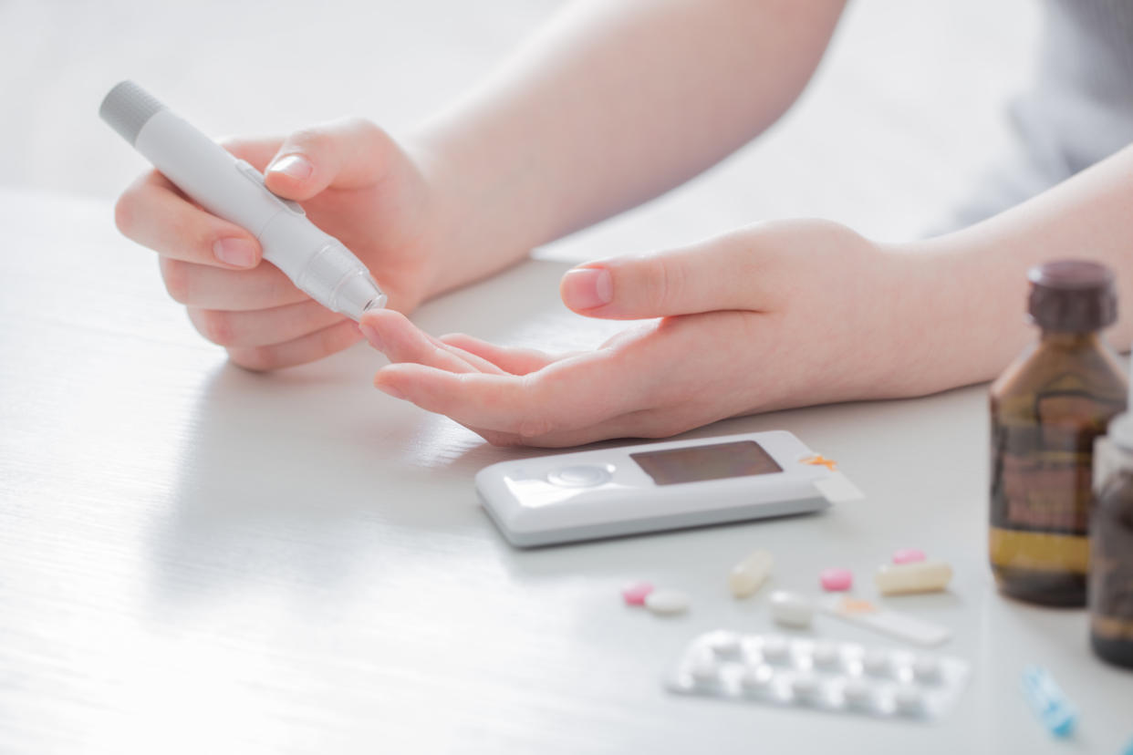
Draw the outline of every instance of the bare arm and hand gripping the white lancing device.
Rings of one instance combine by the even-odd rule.
[[[750,139],[799,94],[843,2],[590,0],[404,145],[343,119],[229,149],[303,203],[369,267],[390,306],[409,311]],[[262,265],[252,233],[160,173],[122,194],[116,221],[159,254],[170,295],[238,364],[298,364],[360,337]]]

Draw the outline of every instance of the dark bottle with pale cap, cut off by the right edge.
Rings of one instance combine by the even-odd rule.
[[[1090,644],[1133,668],[1133,414],[1121,414],[1093,449],[1090,517]]]

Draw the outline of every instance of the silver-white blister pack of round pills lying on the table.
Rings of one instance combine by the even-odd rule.
[[[948,712],[969,671],[948,655],[718,629],[689,643],[665,685],[688,695],[927,721]]]

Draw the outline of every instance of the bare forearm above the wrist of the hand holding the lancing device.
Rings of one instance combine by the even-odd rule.
[[[662,194],[758,135],[806,85],[842,6],[569,8],[418,135],[459,239],[435,290]]]

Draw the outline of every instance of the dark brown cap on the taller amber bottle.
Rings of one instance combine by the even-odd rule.
[[[1114,273],[1085,259],[1060,259],[1028,274],[1031,321],[1043,331],[1085,333],[1117,320]]]

